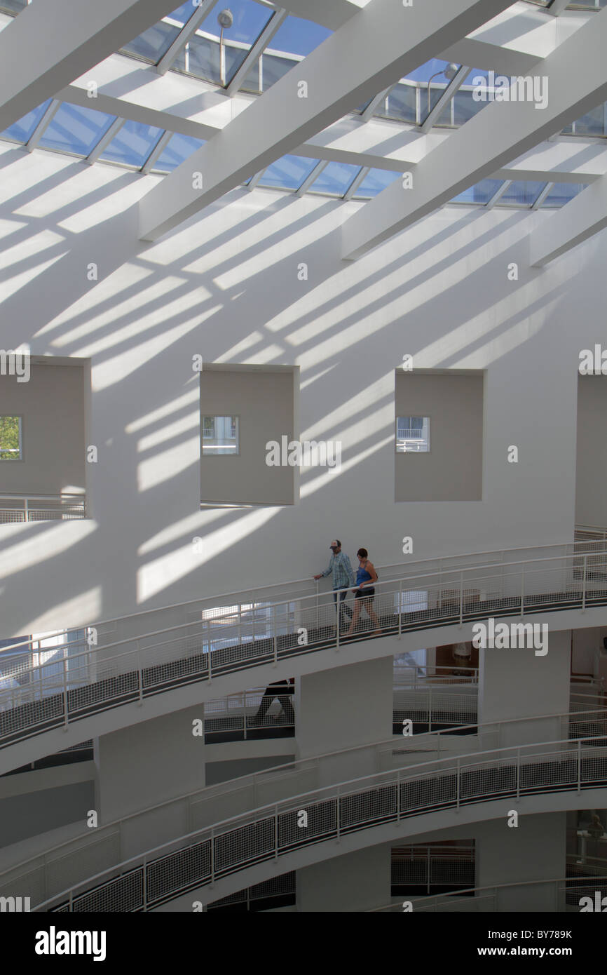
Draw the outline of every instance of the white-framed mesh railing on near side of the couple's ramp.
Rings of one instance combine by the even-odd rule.
[[[604,604],[607,552],[443,568],[377,582],[371,614],[350,637],[347,618],[336,625],[332,594],[316,594],[261,608],[242,602],[215,607],[199,611],[193,622],[105,645],[81,638],[70,645],[61,668],[57,662],[25,664],[12,686],[0,687],[0,747],[185,683],[339,649],[376,631],[400,636],[489,616],[522,618]]]

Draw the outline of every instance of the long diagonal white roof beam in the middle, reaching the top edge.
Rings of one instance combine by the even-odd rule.
[[[510,0],[449,0],[439,8],[370,3],[249,105],[139,202],[139,233],[155,240],[251,172],[270,165],[398,81]],[[200,173],[201,177],[193,177]]]

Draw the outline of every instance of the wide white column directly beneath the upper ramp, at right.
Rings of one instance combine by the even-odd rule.
[[[478,660],[478,722],[499,722],[569,711],[571,632],[548,633],[548,652],[486,648]],[[502,746],[562,737],[562,722],[529,722],[503,729]],[[565,735],[566,736],[566,735]]]

